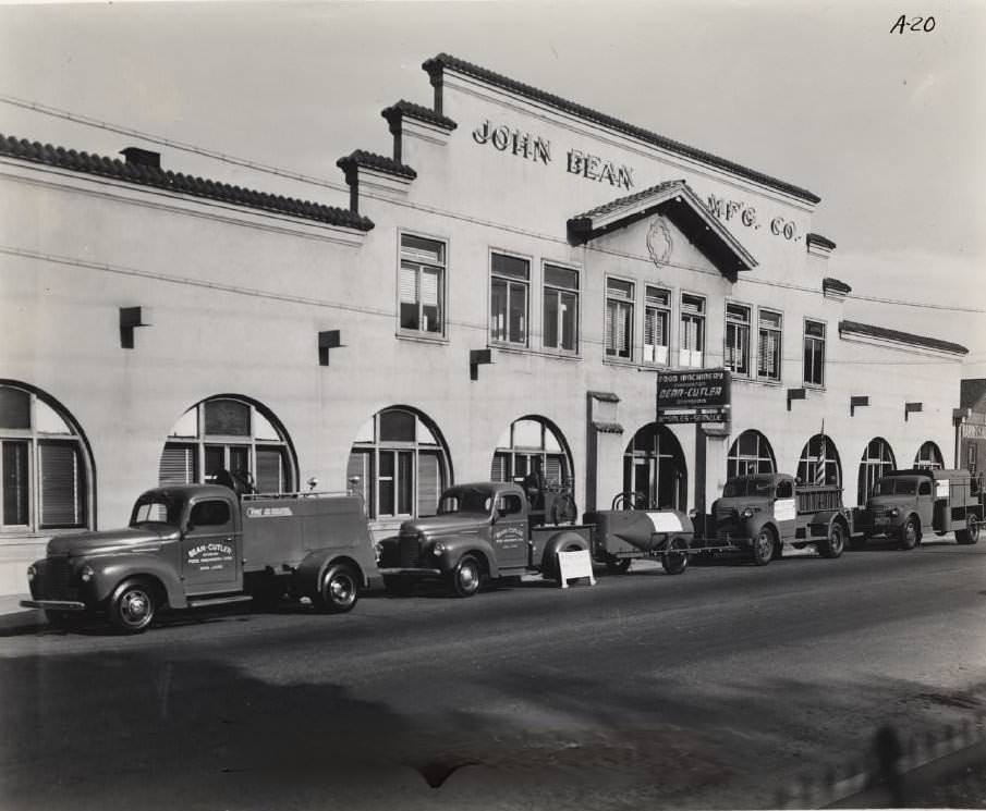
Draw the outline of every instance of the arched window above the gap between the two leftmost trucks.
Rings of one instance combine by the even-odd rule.
[[[385,408],[360,429],[350,452],[346,478],[373,519],[435,515],[448,486],[449,455],[441,434],[423,414]]]

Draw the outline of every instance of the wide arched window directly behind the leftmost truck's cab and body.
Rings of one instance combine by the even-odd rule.
[[[295,489],[297,463],[271,411],[242,397],[210,397],[174,423],[161,453],[161,486],[211,482],[223,469],[249,474],[261,493]]]

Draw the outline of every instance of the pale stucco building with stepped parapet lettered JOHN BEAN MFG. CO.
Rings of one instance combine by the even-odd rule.
[[[333,206],[0,139],[0,591],[51,534],[222,468],[354,484],[386,534],[488,477],[703,508],[742,472],[856,504],[953,464],[964,347],[847,317],[816,195],[424,66],[431,106],[384,111],[392,155],[340,159]],[[657,373],[708,369],[729,408],[658,421]]]

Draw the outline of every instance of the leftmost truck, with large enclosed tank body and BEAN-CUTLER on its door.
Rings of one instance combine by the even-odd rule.
[[[142,631],[163,609],[195,609],[288,594],[350,611],[380,585],[356,495],[238,494],[220,484],[148,490],[130,526],[54,538],[28,568],[31,600],[50,622],[102,614]]]

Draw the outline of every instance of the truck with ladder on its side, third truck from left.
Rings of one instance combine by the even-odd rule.
[[[704,534],[693,551],[741,551],[758,566],[780,556],[786,543],[812,543],[823,557],[839,557],[853,534],[853,515],[837,486],[798,484],[787,474],[740,476],[713,502]]]

